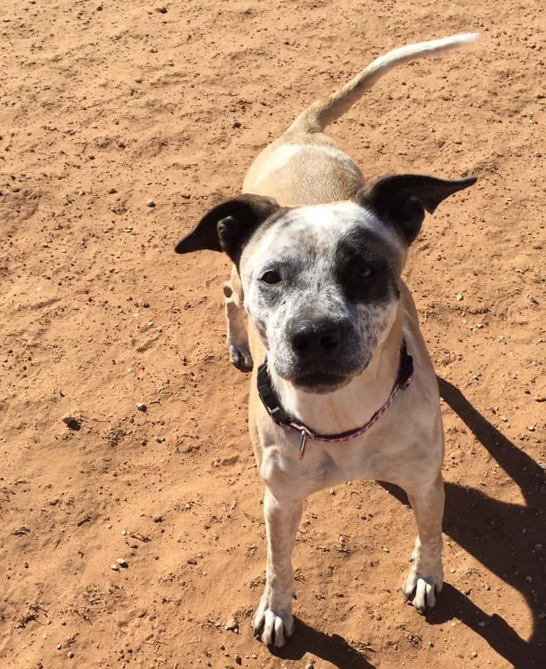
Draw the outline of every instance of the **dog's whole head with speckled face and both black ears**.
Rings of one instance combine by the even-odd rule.
[[[331,392],[389,334],[425,210],[475,180],[385,176],[353,201],[297,208],[245,194],[210,210],[176,252],[226,252],[268,364],[306,392]]]

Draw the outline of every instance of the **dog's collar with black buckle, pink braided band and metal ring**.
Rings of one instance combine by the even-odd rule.
[[[313,439],[314,441],[337,443],[342,441],[349,441],[350,439],[354,439],[355,437],[358,437],[361,434],[367,432],[370,427],[375,424],[375,422],[377,422],[377,420],[379,420],[380,417],[382,417],[382,415],[391,406],[398,392],[404,388],[407,388],[407,386],[412,383],[413,378],[413,357],[407,353],[406,342],[405,339],[403,339],[402,346],[400,346],[400,364],[398,365],[398,376],[396,376],[396,381],[394,382],[391,394],[387,398],[387,401],[381,408],[377,409],[377,411],[365,425],[354,430],[341,432],[339,434],[320,434],[313,432],[311,428],[286,413],[281,405],[279,397],[277,397],[277,394],[271,385],[270,374],[267,371],[267,358],[263,364],[260,364],[260,367],[258,367],[257,381],[258,394],[260,395],[263,406],[265,406],[265,410],[272,417],[273,422],[285,430],[300,433],[301,439],[299,441],[298,457],[301,460],[305,452],[306,438]]]

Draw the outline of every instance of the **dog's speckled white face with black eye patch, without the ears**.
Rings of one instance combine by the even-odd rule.
[[[364,371],[396,316],[405,247],[352,202],[287,210],[245,249],[245,307],[276,374],[331,392]]]

